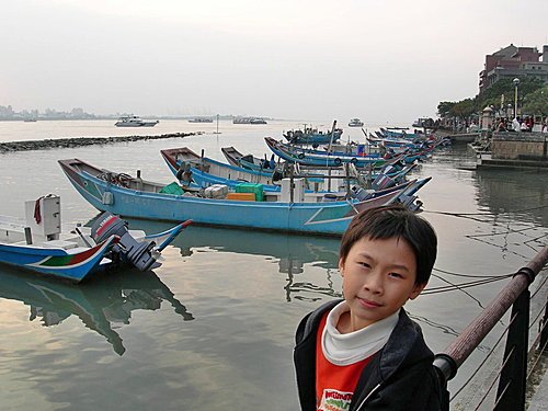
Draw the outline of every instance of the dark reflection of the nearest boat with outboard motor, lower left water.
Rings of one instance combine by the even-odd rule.
[[[87,328],[103,335],[118,355],[126,349],[114,329],[128,324],[133,310],[157,310],[168,301],[184,321],[194,319],[151,271],[125,270],[75,285],[1,267],[0,282],[0,298],[28,306],[30,321],[39,319],[45,327],[52,327],[77,316]]]

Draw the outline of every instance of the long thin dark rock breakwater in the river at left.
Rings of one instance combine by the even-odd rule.
[[[138,140],[158,140],[163,138],[183,138],[195,136],[196,133],[169,133],[157,136],[117,136],[117,137],[67,137],[48,138],[44,140],[24,140],[0,142],[0,153],[27,150],[46,150],[49,148],[71,148]]]

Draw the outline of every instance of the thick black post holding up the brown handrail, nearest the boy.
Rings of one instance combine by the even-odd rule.
[[[503,366],[493,410],[524,411],[530,293],[525,289],[512,306]]]

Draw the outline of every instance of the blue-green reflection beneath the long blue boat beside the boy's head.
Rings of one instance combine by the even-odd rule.
[[[141,230],[161,230],[161,222],[126,218],[132,227]],[[165,226],[167,227],[167,226]],[[238,254],[263,255],[275,259],[278,272],[287,274],[287,285],[284,287],[286,299],[290,296],[297,299],[321,299],[317,294],[340,296],[333,289],[331,277],[339,276],[339,238],[318,236],[283,235],[277,232],[238,230],[231,228],[217,228],[192,225],[186,229],[185,236],[179,236],[171,246],[180,249],[182,256],[190,256],[194,249],[208,248],[220,252]],[[305,264],[320,269],[327,273],[323,277],[309,276],[308,281],[301,279],[299,274],[306,276]],[[313,277],[313,282],[310,278]],[[322,285],[318,282],[321,281]],[[310,296],[311,295],[311,296]]]

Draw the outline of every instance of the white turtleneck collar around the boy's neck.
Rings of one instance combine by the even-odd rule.
[[[338,304],[328,315],[321,335],[321,349],[326,358],[334,365],[350,365],[365,359],[383,349],[398,322],[400,310],[362,330],[341,334],[336,323],[349,311],[346,301]]]

